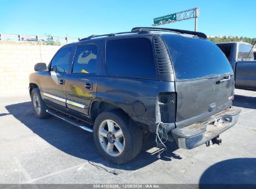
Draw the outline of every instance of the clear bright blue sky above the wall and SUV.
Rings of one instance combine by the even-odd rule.
[[[87,37],[151,27],[155,17],[199,7],[206,35],[256,37],[256,0],[1,0],[0,33]],[[194,30],[194,19],[161,25]]]

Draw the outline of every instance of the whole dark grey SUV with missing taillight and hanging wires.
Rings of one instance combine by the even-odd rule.
[[[200,32],[136,27],[91,35],[35,70],[29,91],[36,116],[93,132],[114,164],[135,158],[148,132],[184,149],[220,142],[240,113],[232,108],[233,70]]]

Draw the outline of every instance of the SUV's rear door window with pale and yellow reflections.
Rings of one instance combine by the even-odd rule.
[[[73,73],[97,73],[97,47],[95,45],[80,45],[73,60]]]

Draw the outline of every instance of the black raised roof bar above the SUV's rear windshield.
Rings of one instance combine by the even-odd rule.
[[[201,32],[193,32],[189,30],[179,30],[179,29],[170,29],[170,28],[161,28],[161,27],[134,27],[131,29],[131,32],[142,32],[142,31],[163,31],[163,32],[177,32],[180,34],[190,34],[197,35],[198,37],[207,39],[207,35]]]

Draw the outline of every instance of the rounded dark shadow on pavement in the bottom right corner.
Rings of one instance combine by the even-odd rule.
[[[256,158],[218,162],[202,174],[199,188],[255,188]]]

